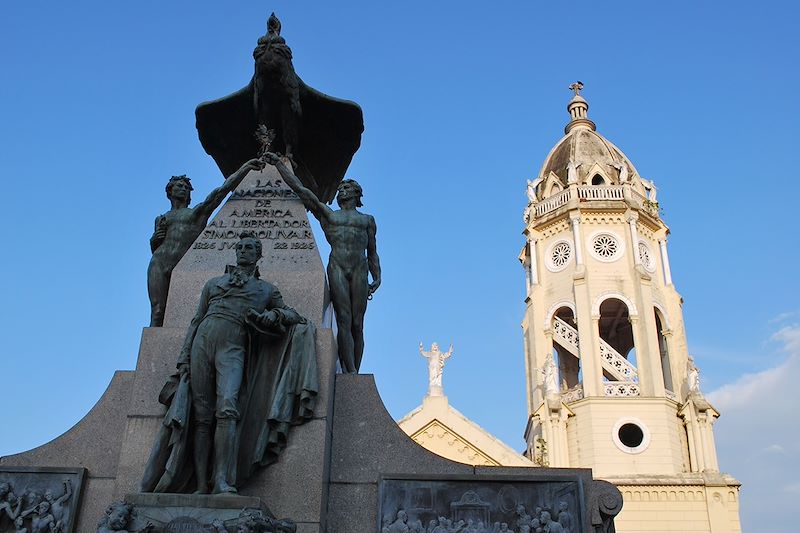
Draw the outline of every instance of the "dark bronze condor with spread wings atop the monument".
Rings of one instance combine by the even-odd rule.
[[[364,118],[354,102],[312,89],[294,71],[292,50],[273,13],[253,51],[255,74],[244,89],[197,106],[197,132],[225,175],[256,157],[259,124],[276,131],[273,151],[287,154],[301,182],[331,202],[361,145]]]

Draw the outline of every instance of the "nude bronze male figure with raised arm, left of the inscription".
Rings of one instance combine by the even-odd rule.
[[[251,170],[264,167],[251,159],[231,174],[205,200],[190,208],[192,184],[186,176],[172,176],[166,186],[169,211],[156,217],[150,250],[153,257],[147,267],[147,292],[150,297],[150,327],[164,325],[164,310],[172,270],[208,224],[208,219],[222,201],[242,182]]]

